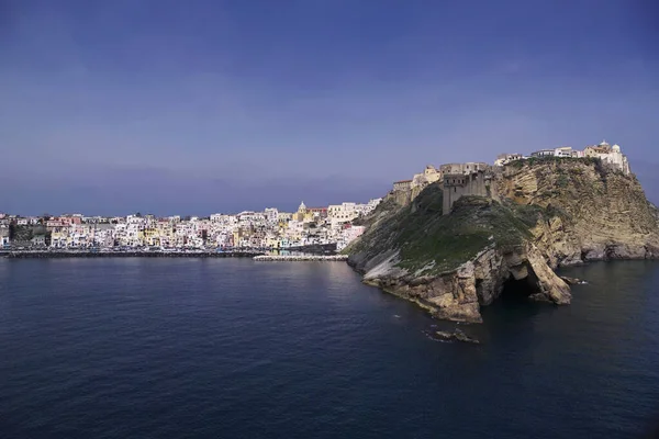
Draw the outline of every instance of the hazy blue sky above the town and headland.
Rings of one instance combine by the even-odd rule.
[[[0,212],[208,215],[622,146],[659,202],[651,0],[0,0]]]

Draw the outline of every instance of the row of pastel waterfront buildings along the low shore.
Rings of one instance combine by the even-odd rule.
[[[340,250],[364,233],[353,223],[369,214],[380,199],[342,203],[295,212],[275,207],[263,212],[214,214],[209,217],[81,214],[21,217],[0,214],[0,245],[70,248],[165,249],[286,249],[336,244]]]

